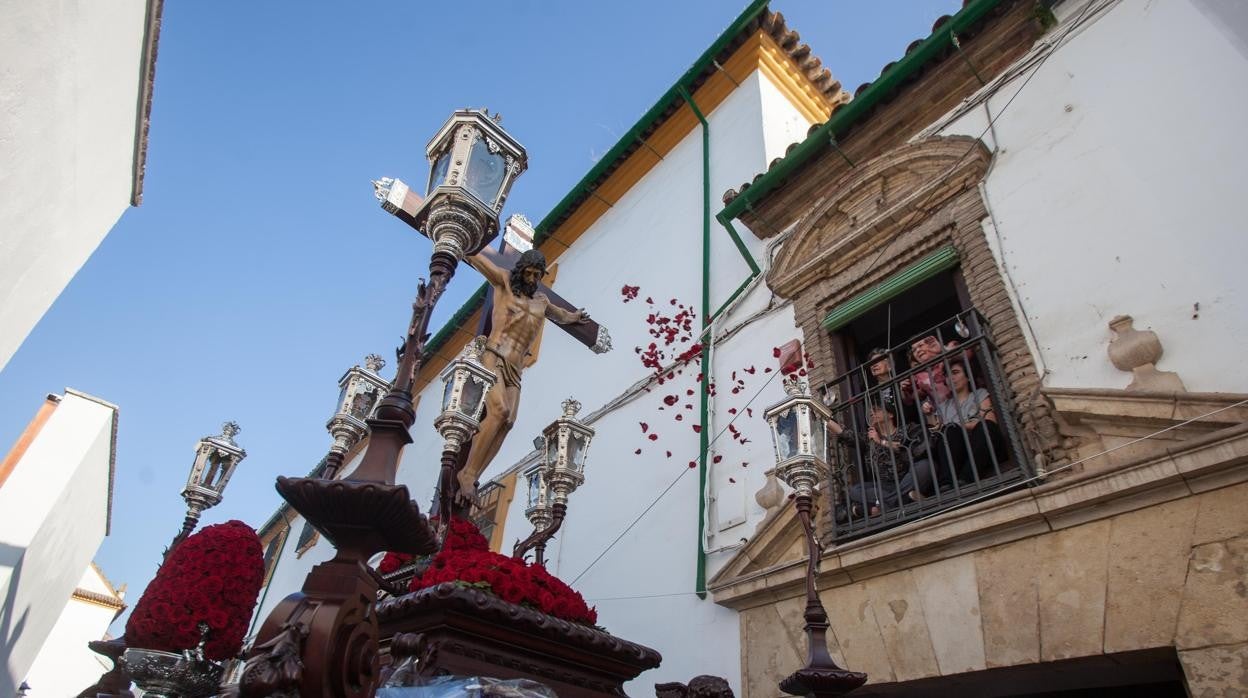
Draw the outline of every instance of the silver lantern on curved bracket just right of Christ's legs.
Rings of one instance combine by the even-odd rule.
[[[577,420],[580,402],[563,401],[563,415],[542,430],[534,446],[542,451],[540,465],[525,473],[529,478],[529,506],[524,516],[533,523],[533,533],[515,543],[512,557],[524,559],[535,551],[538,564],[545,564],[545,544],[563,526],[568,513],[568,497],[585,482],[585,462],[594,430]],[[540,442],[540,443],[539,443]]]

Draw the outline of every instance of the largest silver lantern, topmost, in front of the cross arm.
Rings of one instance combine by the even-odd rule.
[[[498,233],[507,194],[529,166],[524,146],[500,121],[483,109],[461,109],[426,146],[429,182],[413,217],[417,230],[433,240],[434,252],[463,258]],[[402,184],[391,184],[387,197],[402,201],[407,192],[394,192],[397,186]]]

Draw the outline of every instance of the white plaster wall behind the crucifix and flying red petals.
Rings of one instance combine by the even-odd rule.
[[[782,154],[789,142],[805,134],[806,125],[795,125],[794,114],[775,87],[766,80],[760,81],[755,72],[708,115],[711,215],[723,207],[720,192],[753,177],[771,157]],[[768,135],[771,130],[780,136]],[[558,260],[555,288],[568,298],[583,298],[594,318],[609,327],[615,348],[594,355],[563,332],[549,328],[537,365],[524,372],[517,425],[483,481],[498,477],[532,452],[533,437],[558,416],[563,398],[570,395],[582,401],[584,416],[646,376],[648,370],[633,351],[634,346],[650,342],[644,322],[646,296],[653,296],[665,311],[675,310],[669,305],[673,297],[695,308],[700,306],[701,192],[703,142],[701,131],[695,129]],[[714,220],[711,225],[710,305],[714,310],[748,277],[749,267],[725,230]],[[741,235],[759,263],[765,265],[764,242],[744,229]],[[619,291],[625,283],[641,286],[636,301],[620,301]],[[743,297],[723,323],[716,325],[716,330],[765,308],[769,298],[770,292],[760,283]],[[730,418],[726,410],[744,405],[770,377],[763,370],[774,366],[771,347],[795,336],[791,310],[784,307],[716,350],[713,365],[723,392],[713,407],[713,435],[720,428],[714,425]],[[731,396],[728,373],[738,365],[750,363],[756,365],[756,373],[750,380],[749,393]],[[590,448],[585,484],[573,494],[569,518],[548,549],[548,567],[573,583],[590,604],[598,606],[600,624],[664,654],[659,669],[643,674],[629,687],[630,693],[636,694],[653,691],[655,682],[688,681],[700,673],[723,676],[734,687],[739,683],[736,613],[694,593],[699,493],[698,473],[688,463],[698,458],[699,436],[691,430],[698,421],[698,398],[696,395],[685,396],[684,391],[694,385],[696,372],[698,368],[688,370],[678,380],[683,401],[694,405],[694,410],[684,411],[681,402],[681,422],[671,418],[674,411],[658,410],[665,392],[664,387],[654,387],[653,392],[641,393],[593,425],[597,437]],[[441,457],[442,442],[432,427],[441,410],[441,383],[434,383],[419,396],[412,432],[414,442],[404,450],[398,473],[398,481],[412,488],[422,511],[427,511],[433,496]],[[718,541],[735,542],[743,531],[753,531],[763,516],[753,501],[771,460],[761,415],[780,392],[779,382],[773,382],[754,402],[753,420],[743,415],[738,421],[736,426],[751,443],[728,447],[729,436],[721,437],[725,458],[710,468],[709,492],[711,497],[730,501],[734,516],[745,521],[711,539],[708,547],[723,544]],[[660,433],[659,442],[645,441],[640,421],[649,422]],[[640,456],[634,455],[638,447],[643,448]],[[668,450],[673,452],[671,458],[664,456]],[[741,462],[746,461],[753,463],[743,468]],[[352,467],[348,465],[347,469]],[[619,544],[578,579],[582,571],[678,477],[679,482]],[[729,482],[729,477],[736,482]],[[708,512],[711,534],[718,532],[715,516],[715,511]],[[273,577],[273,591],[261,613],[267,613],[276,599],[298,588],[311,569],[310,558],[318,561],[329,556],[322,541],[303,559],[295,559],[293,539],[301,526],[302,522],[296,523],[292,531]],[[532,529],[524,518],[523,487],[508,509],[504,527],[504,552]],[[730,552],[710,556],[708,576],[728,557]]]

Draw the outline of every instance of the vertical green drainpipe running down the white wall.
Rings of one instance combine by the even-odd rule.
[[[701,431],[698,432],[698,574],[694,582],[694,592],[698,598],[706,598],[706,458],[710,450],[710,431],[706,422],[710,416],[710,343],[714,337],[710,333],[710,124],[703,116],[698,102],[694,101],[689,90],[680,86],[680,96],[694,111],[703,131],[703,298],[701,298],[701,370],[703,387],[699,388],[699,421]]]

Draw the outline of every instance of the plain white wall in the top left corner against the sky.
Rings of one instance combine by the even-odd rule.
[[[146,0],[0,0],[0,368],[130,205]]]

